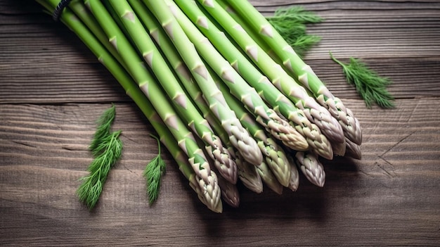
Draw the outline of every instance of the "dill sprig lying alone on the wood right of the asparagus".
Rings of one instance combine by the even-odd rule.
[[[351,57],[349,63],[342,63],[331,52],[330,58],[342,66],[347,82],[356,87],[356,91],[368,108],[371,108],[373,103],[381,108],[394,108],[392,102],[394,97],[387,91],[387,86],[392,84],[391,80],[377,75],[374,70],[357,58]]]

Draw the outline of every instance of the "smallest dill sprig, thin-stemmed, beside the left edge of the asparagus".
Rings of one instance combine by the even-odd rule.
[[[157,196],[159,196],[160,179],[162,175],[164,175],[166,167],[164,160],[162,160],[160,156],[160,140],[153,135],[151,137],[157,140],[159,153],[157,153],[157,156],[153,158],[145,167],[145,170],[143,170],[143,176],[147,181],[147,194],[150,205],[153,204],[157,200]]]

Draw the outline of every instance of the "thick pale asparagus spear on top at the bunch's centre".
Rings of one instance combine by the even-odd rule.
[[[185,61],[190,72],[198,83],[204,99],[209,103],[209,108],[213,111],[216,118],[221,121],[221,125],[229,134],[229,139],[235,148],[240,151],[242,156],[254,165],[261,163],[263,159],[257,143],[250,137],[249,133],[240,125],[240,121],[235,113],[224,100],[219,89],[215,87],[211,75],[207,71],[198,52],[190,42],[185,32],[177,23],[174,15],[163,1],[144,1],[145,5],[155,15],[167,32],[176,49],[179,51],[183,61]]]

